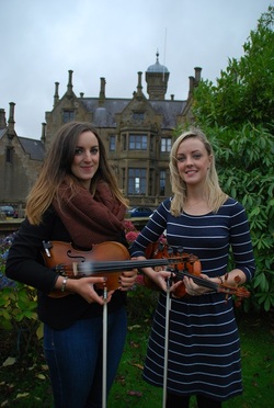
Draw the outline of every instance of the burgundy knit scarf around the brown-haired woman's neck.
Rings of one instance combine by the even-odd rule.
[[[54,207],[68,229],[72,242],[80,248],[117,240],[124,230],[126,207],[112,194],[109,184],[100,182],[94,196],[82,188],[72,194],[71,186],[64,182],[58,191],[61,205],[54,200]]]

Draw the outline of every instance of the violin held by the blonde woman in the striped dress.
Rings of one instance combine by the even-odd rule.
[[[198,258],[192,253],[183,252],[182,248],[170,248],[167,243],[163,242],[155,242],[148,246],[146,256],[152,259],[162,259],[162,258],[178,258],[181,259],[182,262],[176,262],[176,264],[173,264],[172,269],[169,269],[172,271],[172,277],[175,282],[183,281],[184,276],[191,277],[194,283],[196,283],[199,286],[207,287],[212,290],[213,292],[219,292],[225,293],[226,298],[228,295],[235,295],[236,296],[236,306],[240,306],[240,303],[242,298],[249,297],[250,292],[247,291],[246,287],[240,286],[239,284],[241,282],[240,276],[235,277],[235,285],[228,285],[227,284],[227,277],[228,274],[225,276],[225,281],[220,283],[216,283],[213,281],[208,281],[206,279],[201,277],[202,272],[202,264],[198,260]],[[151,282],[151,280],[148,276],[144,277],[145,285],[150,288],[157,288],[158,286]],[[157,287],[156,287],[157,286]],[[176,297],[182,297],[186,294],[185,285],[182,284],[176,287],[176,290],[173,293]]]

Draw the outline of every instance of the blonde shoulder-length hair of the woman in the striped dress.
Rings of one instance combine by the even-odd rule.
[[[207,178],[205,181],[205,200],[207,205],[214,213],[216,213],[219,207],[225,203],[227,200],[227,194],[222,192],[219,186],[218,174],[215,167],[215,157],[212,145],[209,144],[208,139],[206,138],[205,134],[196,128],[191,131],[184,132],[181,136],[176,138],[174,141],[171,152],[170,152],[170,181],[171,181],[171,189],[173,192],[173,200],[171,201],[171,214],[174,216],[179,216],[186,202],[187,197],[187,189],[185,182],[179,174],[178,170],[178,159],[176,152],[179,146],[183,140],[189,138],[197,138],[199,139],[208,154],[208,157],[212,157],[210,167],[207,172]]]

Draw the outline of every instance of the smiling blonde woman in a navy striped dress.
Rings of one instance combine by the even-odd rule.
[[[219,408],[221,401],[242,393],[240,342],[232,296],[213,288],[220,284],[235,286],[238,279],[241,283],[252,279],[255,265],[249,224],[242,205],[220,189],[212,146],[201,131],[185,132],[174,141],[170,173],[173,196],[153,213],[130,253],[144,259],[147,247],[167,230],[169,247],[174,251],[183,248],[198,259],[202,281],[184,276],[171,285],[164,378],[165,280],[170,273],[144,269],[162,290],[144,378],[158,387],[167,379],[167,408],[189,407],[193,395],[199,408]],[[203,281],[210,287],[202,285]],[[176,296],[180,285],[184,285],[184,296]]]

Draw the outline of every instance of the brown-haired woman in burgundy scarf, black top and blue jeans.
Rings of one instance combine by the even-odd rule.
[[[50,253],[56,241],[83,251],[105,241],[126,246],[126,206],[96,131],[88,123],[64,125],[27,197],[26,219],[9,251],[5,270],[10,279],[38,290],[38,317],[44,322],[56,408],[102,407],[103,305],[107,303],[109,313],[109,394],[126,337],[126,291],[136,271],[121,273],[119,286],[103,296],[104,276],[62,276],[45,264],[42,253]]]

